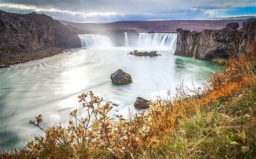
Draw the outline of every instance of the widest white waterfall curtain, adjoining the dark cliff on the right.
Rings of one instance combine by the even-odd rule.
[[[139,47],[152,49],[175,50],[177,34],[172,33],[139,33]]]

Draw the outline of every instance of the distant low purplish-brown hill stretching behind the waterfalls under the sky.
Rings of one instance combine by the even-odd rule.
[[[207,20],[152,20],[152,21],[115,21],[113,23],[73,23],[59,20],[60,23],[71,25],[87,32],[101,32],[115,29],[136,30],[138,32],[176,32],[178,28],[190,31],[221,30],[228,23],[242,23],[250,17],[233,17],[226,19]]]

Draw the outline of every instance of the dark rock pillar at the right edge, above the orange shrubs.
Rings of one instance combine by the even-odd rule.
[[[247,19],[242,25],[239,52],[245,52],[252,41],[256,41],[256,18]]]

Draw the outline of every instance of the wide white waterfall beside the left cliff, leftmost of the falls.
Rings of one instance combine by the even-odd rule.
[[[95,34],[84,34],[78,35],[80,38],[82,47],[84,48],[111,48],[113,47],[112,41],[109,37],[104,35],[95,35]]]

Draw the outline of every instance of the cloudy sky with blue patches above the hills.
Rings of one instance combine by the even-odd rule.
[[[0,0],[0,10],[45,13],[54,19],[104,23],[121,20],[256,16],[253,0]]]

